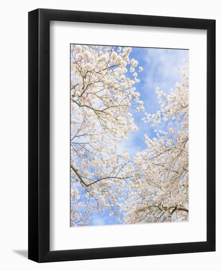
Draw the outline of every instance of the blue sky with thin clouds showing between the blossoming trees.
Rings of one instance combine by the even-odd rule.
[[[174,87],[176,82],[181,82],[180,71],[178,67],[184,66],[184,60],[189,56],[188,50],[181,49],[161,49],[161,48],[140,48],[133,47],[130,53],[130,59],[134,58],[138,61],[138,67],[143,67],[142,72],[138,72],[140,82],[135,85],[136,90],[140,93],[139,99],[144,102],[145,112],[155,113],[160,109],[160,104],[155,93],[156,87],[168,94],[170,89]],[[129,76],[133,73],[128,72]],[[127,75],[126,75],[127,77]],[[131,132],[127,140],[123,140],[118,144],[118,150],[129,149],[132,158],[138,151],[146,148],[144,143],[144,135],[150,138],[156,136],[155,127],[150,127],[150,123],[144,124],[144,112],[132,111],[135,124],[138,126],[137,132]],[[165,123],[158,129],[167,130]],[[113,225],[119,224],[114,216],[109,215],[109,211],[102,213],[91,213],[88,225]]]

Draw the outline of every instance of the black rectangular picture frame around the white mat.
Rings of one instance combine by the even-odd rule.
[[[50,251],[50,21],[207,30],[207,240]],[[28,13],[28,259],[74,261],[215,251],[216,21],[36,9]]]

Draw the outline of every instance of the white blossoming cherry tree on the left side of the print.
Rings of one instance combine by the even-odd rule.
[[[143,68],[131,50],[71,45],[71,226],[87,225],[94,211],[119,220],[136,174],[128,150],[117,149],[138,130],[132,110],[144,111],[135,88]]]

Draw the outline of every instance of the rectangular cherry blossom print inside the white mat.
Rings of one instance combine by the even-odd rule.
[[[70,225],[188,221],[189,50],[70,44]]]

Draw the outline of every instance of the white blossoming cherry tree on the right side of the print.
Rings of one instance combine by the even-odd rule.
[[[181,71],[181,84],[168,95],[156,88],[161,110],[145,113],[144,123],[155,130],[153,139],[145,135],[146,149],[134,157],[136,180],[130,182],[131,195],[124,206],[125,223],[148,223],[188,220],[188,148],[189,148],[189,73]]]

